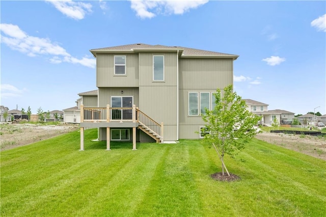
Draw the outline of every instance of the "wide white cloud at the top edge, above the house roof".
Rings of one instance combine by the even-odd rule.
[[[204,5],[208,0],[180,0],[180,1],[139,1],[130,0],[131,9],[141,18],[152,18],[156,14],[183,14],[190,9]],[[151,11],[150,11],[151,10]]]

